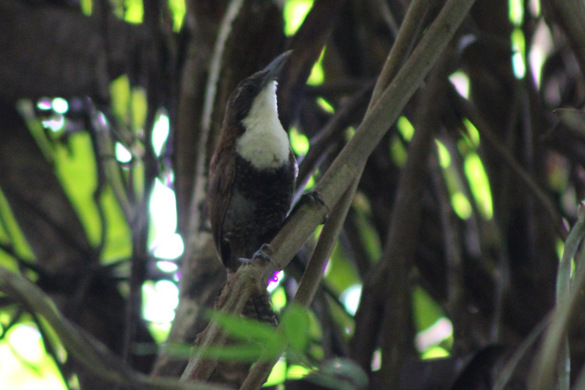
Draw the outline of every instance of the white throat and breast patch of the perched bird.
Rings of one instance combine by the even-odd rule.
[[[278,120],[276,81],[270,81],[256,96],[242,125],[246,130],[236,142],[241,157],[258,169],[287,163],[290,143]]]

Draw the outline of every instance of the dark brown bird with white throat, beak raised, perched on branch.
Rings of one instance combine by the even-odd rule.
[[[207,200],[215,247],[228,275],[270,243],[290,211],[298,166],[276,97],[290,54],[241,81],[226,104]]]

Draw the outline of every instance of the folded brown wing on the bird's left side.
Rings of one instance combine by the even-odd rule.
[[[222,227],[225,212],[232,196],[232,183],[236,174],[236,153],[233,147],[218,149],[209,165],[209,183],[207,202],[211,231],[214,234],[215,247],[225,263],[222,253]]]

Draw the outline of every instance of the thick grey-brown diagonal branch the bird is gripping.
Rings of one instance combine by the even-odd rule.
[[[324,204],[307,202],[291,216],[270,243],[274,249],[273,263],[254,259],[250,265],[240,267],[235,275],[261,284],[272,276],[275,267],[278,270],[283,270],[286,267],[302,244],[315,231],[315,228],[322,223],[328,212],[328,205],[336,205],[349,185],[356,180],[367,156],[370,156],[380,142],[389,129],[390,123],[398,118],[402,108],[418,89],[428,71],[452,39],[473,3],[474,0],[448,0],[404,67],[385,89],[379,101],[374,104],[362,124],[357,128],[352,139],[315,186],[315,191],[321,195]],[[234,305],[240,308],[255,290],[255,286],[250,287],[240,283],[230,286],[226,294],[231,300],[243,302],[241,305]],[[216,337],[212,333],[216,332],[218,329],[215,329],[214,332],[208,332],[202,340],[202,348],[211,345],[210,342]],[[191,377],[189,372],[185,372],[185,374]]]

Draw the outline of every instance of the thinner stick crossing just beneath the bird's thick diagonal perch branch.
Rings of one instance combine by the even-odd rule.
[[[325,262],[329,256],[331,256],[339,232],[343,227],[343,222],[345,222],[349,206],[352,204],[358,183],[358,180],[354,181],[352,187],[347,189],[343,198],[333,209],[327,223],[325,223],[321,235],[319,236],[319,241],[315,247],[315,251],[313,252],[313,256],[311,256],[311,260],[307,265],[307,270],[305,270],[302,275],[297,294],[292,301],[293,303],[304,308],[308,308],[311,304],[317,288],[321,283]],[[280,330],[279,326],[277,332]],[[283,353],[284,348],[285,345],[281,346],[281,350],[278,351],[278,353],[275,353],[274,351],[264,353],[252,367],[250,374],[243,382],[240,390],[259,389],[260,386],[266,382],[270,370],[272,370],[274,364],[278,361],[278,356]],[[277,356],[276,358],[274,358],[275,355]]]

